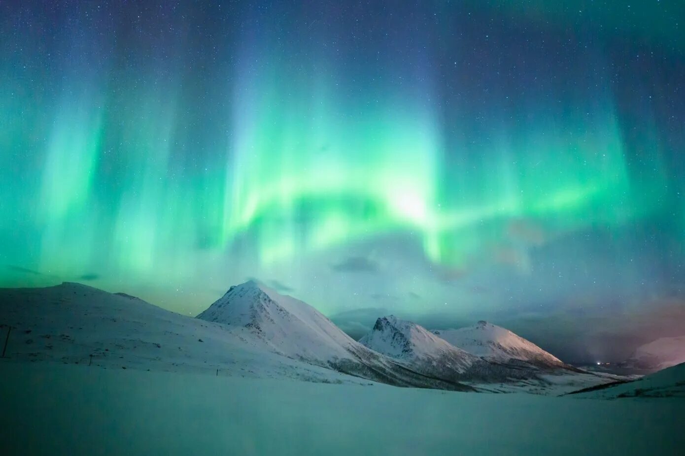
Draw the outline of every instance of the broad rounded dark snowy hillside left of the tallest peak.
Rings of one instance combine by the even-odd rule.
[[[247,329],[169,312],[126,294],[62,283],[0,289],[0,340],[14,362],[368,383],[264,351]]]

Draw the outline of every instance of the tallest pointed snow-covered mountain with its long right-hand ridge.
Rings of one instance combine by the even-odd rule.
[[[286,357],[393,385],[469,390],[398,364],[356,342],[314,307],[256,281],[232,286],[197,318],[247,329]]]

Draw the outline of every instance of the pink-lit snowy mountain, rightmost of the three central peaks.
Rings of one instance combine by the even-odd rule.
[[[473,327],[441,329],[435,335],[477,357],[499,363],[525,362],[538,367],[562,367],[564,363],[539,346],[497,325],[479,321]]]

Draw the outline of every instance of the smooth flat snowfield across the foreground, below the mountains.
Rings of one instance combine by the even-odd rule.
[[[2,360],[0,360],[2,361]],[[685,400],[0,362],[4,455],[682,455]]]

